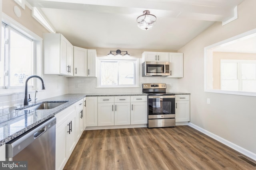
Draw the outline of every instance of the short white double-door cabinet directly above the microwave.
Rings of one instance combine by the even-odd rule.
[[[169,61],[169,53],[166,52],[150,52],[145,51],[142,53],[142,63],[144,61]]]

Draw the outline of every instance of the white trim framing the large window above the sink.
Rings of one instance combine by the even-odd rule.
[[[36,33],[30,31],[14,19],[10,18],[8,15],[2,13],[2,22],[6,23],[10,27],[16,29],[26,37],[34,40],[34,74],[42,77],[42,49],[43,49],[43,39],[38,36]],[[43,77],[42,77],[43,78]],[[34,87],[29,87],[28,90],[32,91],[35,89],[41,89],[40,84],[37,84],[37,81],[33,79]],[[8,94],[17,94],[24,92],[24,86],[20,86],[20,88],[10,88],[10,89],[2,89],[0,88],[0,96],[8,95]]]

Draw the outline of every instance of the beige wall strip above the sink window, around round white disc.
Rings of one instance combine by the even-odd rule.
[[[14,6],[18,6],[21,10],[21,17],[18,18],[14,14]],[[42,33],[49,32],[46,28],[44,28],[36,19],[32,17],[31,10],[26,6],[25,10],[21,8],[14,0],[3,0],[2,1],[2,12],[8,16],[10,16],[12,19],[17,21],[18,23],[22,24],[26,28],[28,28],[30,31],[36,33],[36,35],[42,37]]]

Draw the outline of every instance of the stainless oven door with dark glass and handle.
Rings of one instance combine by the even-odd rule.
[[[175,96],[148,96],[148,119],[175,118]]]

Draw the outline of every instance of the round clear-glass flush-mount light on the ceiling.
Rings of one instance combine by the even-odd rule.
[[[143,30],[151,29],[156,25],[156,16],[150,14],[149,10],[143,11],[143,15],[137,18],[138,27]]]

